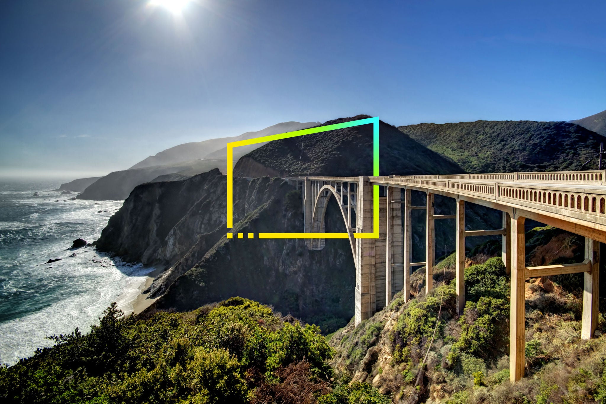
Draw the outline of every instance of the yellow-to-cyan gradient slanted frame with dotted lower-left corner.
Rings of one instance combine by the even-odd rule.
[[[288,139],[289,137],[321,133],[329,130],[373,124],[373,176],[379,176],[379,118],[365,118],[340,124],[296,130],[270,136],[255,137],[227,144],[227,228],[233,228],[233,148],[263,142]],[[238,238],[242,233],[238,233]],[[355,239],[379,238],[379,185],[373,185],[373,233],[353,233]],[[259,233],[259,239],[348,239],[349,233]]]

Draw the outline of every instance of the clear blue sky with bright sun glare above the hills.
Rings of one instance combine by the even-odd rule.
[[[604,1],[0,2],[0,176],[81,177],[283,121],[606,109]]]

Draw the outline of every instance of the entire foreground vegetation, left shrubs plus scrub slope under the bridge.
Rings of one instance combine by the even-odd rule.
[[[574,237],[551,227],[530,230],[527,260],[539,259],[537,250],[561,235]],[[569,241],[551,246],[562,250],[556,260],[582,255],[579,240]],[[582,297],[570,277],[526,283],[527,377],[516,383],[508,379],[510,285],[501,258],[478,254],[468,259],[462,316],[455,311],[454,255],[435,267],[435,287],[428,295],[424,270],[412,278],[415,296],[410,302],[396,294],[371,319],[358,327],[352,322],[326,339],[318,326],[240,297],[193,311],[127,317],[113,303],[90,333],[76,329],[54,336],[52,348],[0,368],[0,399],[88,404],[606,402],[606,336],[580,339]],[[605,325],[601,317],[599,331]]]

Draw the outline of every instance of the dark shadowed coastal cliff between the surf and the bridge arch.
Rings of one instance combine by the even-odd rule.
[[[235,233],[302,231],[301,192],[283,180],[236,178],[233,190]],[[97,247],[167,268],[147,291],[164,294],[156,308],[189,310],[242,296],[319,319],[327,329],[347,323],[355,283],[347,240],[330,240],[322,251],[307,251],[303,240],[228,240],[226,204],[227,177],[219,170],[143,184],[110,219]],[[334,201],[327,231],[345,231]]]

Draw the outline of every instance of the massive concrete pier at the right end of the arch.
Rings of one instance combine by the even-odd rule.
[[[373,232],[373,186],[360,177],[356,187],[356,228]],[[375,313],[375,240],[356,239],[356,326]]]

